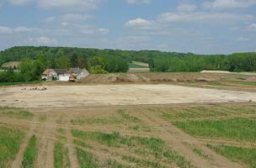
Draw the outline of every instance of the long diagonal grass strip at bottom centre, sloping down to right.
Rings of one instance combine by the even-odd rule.
[[[132,159],[130,156],[123,157],[124,160],[129,160],[134,162],[138,165],[149,167],[161,167],[159,166],[159,161],[166,159],[171,163],[179,165],[179,167],[194,167],[189,163],[189,161],[185,160],[185,158],[179,155],[176,152],[168,149],[168,146],[162,139],[156,138],[147,138],[147,137],[140,137],[140,136],[122,136],[119,133],[113,134],[104,134],[101,132],[85,132],[81,130],[72,130],[72,135],[76,138],[83,139],[83,140],[93,140],[98,142],[99,144],[104,144],[109,147],[126,147],[130,151],[138,153],[140,149],[141,154],[147,154],[147,156],[151,155],[155,160],[140,160],[140,159]],[[137,152],[136,152],[137,151]],[[164,166],[162,166],[164,167]]]

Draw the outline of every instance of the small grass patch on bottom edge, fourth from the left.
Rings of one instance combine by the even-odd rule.
[[[87,151],[77,148],[77,160],[81,168],[98,168],[97,160]]]

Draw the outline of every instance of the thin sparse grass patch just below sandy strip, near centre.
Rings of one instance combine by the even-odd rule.
[[[131,114],[126,113],[125,110],[118,110],[117,115],[108,116],[108,117],[91,117],[91,118],[77,118],[72,119],[72,124],[118,124],[118,123],[137,123],[141,120],[139,118],[133,117]]]

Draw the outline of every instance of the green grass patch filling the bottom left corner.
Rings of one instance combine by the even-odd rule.
[[[19,129],[0,127],[0,167],[8,167],[19,151],[24,139],[24,133]]]

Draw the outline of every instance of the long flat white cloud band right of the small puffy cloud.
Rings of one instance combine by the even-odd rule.
[[[163,23],[236,23],[252,20],[252,15],[236,13],[163,13],[158,20]]]

